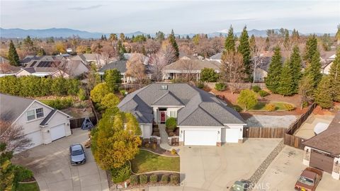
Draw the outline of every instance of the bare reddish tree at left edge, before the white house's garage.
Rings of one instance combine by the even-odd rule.
[[[4,120],[0,120],[0,142],[6,144],[6,151],[23,151],[33,145],[23,127]]]

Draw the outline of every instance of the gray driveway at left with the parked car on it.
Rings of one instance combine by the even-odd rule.
[[[86,151],[86,163],[72,166],[69,161],[69,145],[84,144],[88,132],[72,129],[69,137],[53,141],[51,144],[36,146],[13,157],[18,163],[33,170],[40,191],[53,190],[108,190],[106,172],[94,161],[91,149]]]

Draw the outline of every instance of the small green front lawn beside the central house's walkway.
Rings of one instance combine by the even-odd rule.
[[[171,170],[179,172],[179,157],[166,157],[140,150],[131,161],[134,173],[147,173],[155,170]]]

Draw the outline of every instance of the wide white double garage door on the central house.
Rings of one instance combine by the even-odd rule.
[[[212,145],[216,146],[217,131],[184,131],[185,145]]]

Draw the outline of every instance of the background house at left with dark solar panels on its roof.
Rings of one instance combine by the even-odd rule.
[[[31,60],[25,69],[18,72],[17,76],[64,76],[66,78],[69,76],[79,76],[88,71],[89,68],[86,64],[79,60]]]

